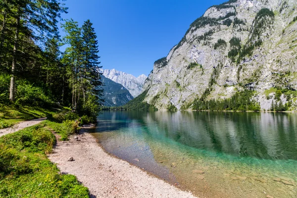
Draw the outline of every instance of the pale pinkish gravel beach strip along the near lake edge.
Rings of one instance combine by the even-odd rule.
[[[61,172],[77,176],[94,198],[194,198],[189,192],[148,175],[107,154],[96,138],[81,130],[78,141],[57,141],[49,159]],[[67,161],[73,157],[73,161]]]

